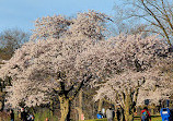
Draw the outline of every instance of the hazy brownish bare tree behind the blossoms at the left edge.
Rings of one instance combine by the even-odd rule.
[[[5,29],[0,33],[0,59],[9,60],[15,49],[28,41],[30,34],[19,28]]]

